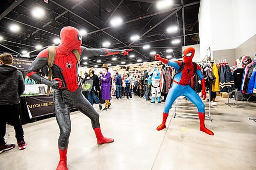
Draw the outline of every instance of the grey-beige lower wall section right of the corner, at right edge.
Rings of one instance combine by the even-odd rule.
[[[236,48],[236,59],[244,55],[250,56],[251,59],[255,58],[256,54],[256,34],[249,38]]]

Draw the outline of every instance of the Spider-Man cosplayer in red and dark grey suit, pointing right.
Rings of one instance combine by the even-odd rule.
[[[57,123],[60,129],[58,140],[60,161],[57,169],[67,168],[67,149],[71,131],[70,106],[76,107],[92,120],[97,143],[113,142],[112,138],[105,138],[101,134],[99,114],[81,93],[78,83],[78,63],[72,50],[78,50],[82,56],[99,55],[128,55],[131,50],[110,50],[105,48],[89,49],[81,46],[82,37],[79,31],[73,27],[65,27],[60,31],[61,43],[56,46],[56,58],[52,67],[54,80],[49,81],[38,75],[38,71],[47,65],[48,49],[41,51],[29,67],[27,75],[37,82],[54,88],[54,109]]]

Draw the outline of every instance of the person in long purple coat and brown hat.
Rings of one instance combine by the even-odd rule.
[[[105,100],[105,107],[102,111],[106,111],[109,109],[111,103],[110,103],[110,90],[111,90],[111,74],[109,72],[108,64],[103,64],[102,68],[104,70],[102,71],[103,74],[100,77],[101,81],[101,90],[102,90],[102,100]]]

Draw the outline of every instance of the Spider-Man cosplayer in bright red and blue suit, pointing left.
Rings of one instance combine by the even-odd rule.
[[[168,113],[170,108],[172,107],[174,101],[181,95],[185,96],[190,102],[194,103],[198,108],[198,115],[200,119],[200,131],[203,131],[209,135],[214,135],[213,132],[211,132],[209,129],[207,129],[204,126],[204,104],[198,94],[189,86],[189,80],[191,77],[194,76],[194,64],[192,62],[192,59],[195,55],[195,48],[188,47],[183,52],[183,62],[184,62],[184,68],[181,72],[179,72],[173,80],[173,85],[170,88],[166,101],[165,106],[163,109],[163,122],[160,126],[157,127],[157,130],[164,129],[166,119],[168,117]],[[178,70],[181,66],[180,61],[170,61],[164,58],[161,58],[160,55],[155,55],[156,60],[160,60],[164,64],[173,66],[176,70]],[[197,64],[197,70],[196,74],[200,77],[201,84],[202,84],[202,98],[205,100],[206,98],[206,92],[205,92],[205,80],[202,75],[201,67]]]

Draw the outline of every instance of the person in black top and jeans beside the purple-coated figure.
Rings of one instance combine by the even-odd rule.
[[[99,78],[97,75],[94,74],[95,70],[94,68],[90,68],[89,69],[89,75],[84,79],[83,83],[86,81],[86,80],[92,80],[93,81],[93,87],[92,87],[92,90],[91,91],[87,91],[87,98],[88,98],[88,101],[91,103],[91,105],[93,106],[93,100],[99,104],[99,110],[102,109],[102,106],[101,106],[101,103],[99,101],[99,98],[98,98],[98,93],[99,93]]]

